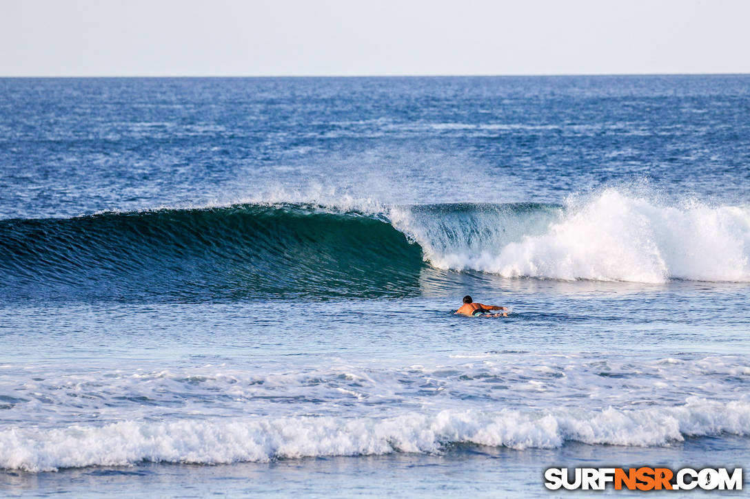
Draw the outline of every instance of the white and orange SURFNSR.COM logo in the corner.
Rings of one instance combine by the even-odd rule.
[[[742,490],[742,468],[547,468],[544,486],[550,490]]]

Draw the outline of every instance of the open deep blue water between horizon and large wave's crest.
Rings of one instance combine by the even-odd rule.
[[[560,202],[643,179],[736,203],[750,180],[748,76],[3,79],[0,92],[5,217],[332,190]]]

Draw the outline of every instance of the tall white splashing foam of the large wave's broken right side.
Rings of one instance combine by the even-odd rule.
[[[395,225],[443,269],[569,280],[750,281],[748,207],[663,205],[607,189],[585,202],[571,200],[541,233],[510,241],[496,237],[507,228],[487,227],[489,236],[478,244],[434,238],[425,221],[413,216],[397,217]]]

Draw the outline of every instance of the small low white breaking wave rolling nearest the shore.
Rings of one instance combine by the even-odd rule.
[[[315,456],[437,453],[450,444],[523,450],[586,444],[658,446],[688,436],[750,435],[750,404],[688,399],[639,410],[440,411],[389,418],[278,417],[245,420],[121,422],[0,432],[0,468],[222,464]]]

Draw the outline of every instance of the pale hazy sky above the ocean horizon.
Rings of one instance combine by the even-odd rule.
[[[748,0],[0,0],[0,76],[750,73]]]

